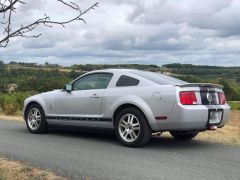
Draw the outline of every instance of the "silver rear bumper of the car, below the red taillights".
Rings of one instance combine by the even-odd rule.
[[[223,127],[230,116],[230,107],[226,105],[190,105],[183,106],[176,104],[173,113],[167,116],[166,120],[157,121],[156,126],[159,131],[168,130],[199,130],[204,131],[209,128],[209,111],[222,110],[222,120],[217,127]]]

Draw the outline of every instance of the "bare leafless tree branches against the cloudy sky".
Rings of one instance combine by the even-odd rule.
[[[69,7],[73,12],[76,12],[77,15],[69,18],[66,21],[54,21],[47,14],[44,14],[43,17],[35,20],[30,24],[15,27],[14,24],[12,24],[12,17],[17,13],[17,6],[25,4],[24,0],[0,0],[0,15],[2,15],[2,17],[0,16],[0,24],[3,26],[0,29],[0,31],[3,30],[2,35],[0,35],[0,47],[6,47],[10,39],[14,37],[38,38],[41,36],[41,34],[29,35],[29,32],[33,31],[40,25],[44,25],[46,27],[60,25],[62,27],[65,27],[65,25],[74,21],[86,23],[82,16],[98,6],[98,3],[95,3],[89,8],[82,11],[77,3],[66,2],[64,0],[56,1],[58,3],[61,3],[63,6]]]

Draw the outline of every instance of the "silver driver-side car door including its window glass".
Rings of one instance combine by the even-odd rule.
[[[105,89],[111,73],[93,73],[72,83],[71,92],[61,91],[56,96],[58,116],[98,117]]]

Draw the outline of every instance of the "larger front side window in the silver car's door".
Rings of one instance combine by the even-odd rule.
[[[73,84],[73,90],[106,89],[113,74],[95,73],[86,75]]]

